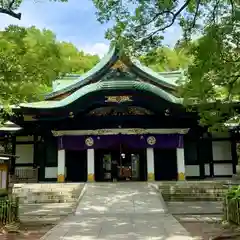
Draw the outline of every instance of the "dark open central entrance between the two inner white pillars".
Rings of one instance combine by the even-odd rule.
[[[111,149],[96,149],[96,181],[112,181],[115,178],[112,171],[113,162],[117,162],[117,181],[147,180],[145,149],[133,149],[124,144],[115,145]]]

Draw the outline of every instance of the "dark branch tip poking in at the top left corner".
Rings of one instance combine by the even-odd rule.
[[[67,2],[67,0],[49,0],[52,2]],[[16,12],[23,0],[0,0],[0,13],[21,19],[21,13]]]

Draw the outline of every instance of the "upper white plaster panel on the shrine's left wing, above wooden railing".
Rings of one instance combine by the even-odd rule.
[[[16,159],[16,164],[33,163],[33,151],[33,144],[17,144],[16,155],[19,158]]]

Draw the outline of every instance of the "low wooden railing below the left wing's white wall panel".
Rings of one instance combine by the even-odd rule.
[[[34,183],[38,181],[38,168],[16,168],[13,183]]]

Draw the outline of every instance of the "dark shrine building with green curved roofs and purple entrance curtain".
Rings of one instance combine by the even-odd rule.
[[[54,81],[41,102],[13,108],[11,171],[37,167],[39,182],[171,181],[231,177],[236,141],[199,126],[177,96],[181,71],[156,73],[110,48],[89,72]],[[0,129],[1,132],[1,129]],[[2,139],[2,140],[1,140]]]

